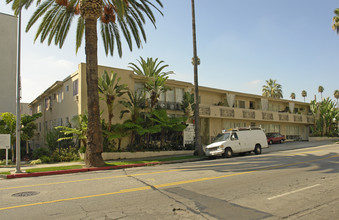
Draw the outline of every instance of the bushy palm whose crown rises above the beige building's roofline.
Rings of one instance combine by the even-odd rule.
[[[151,111],[158,103],[160,95],[165,93],[170,88],[165,85],[166,80],[171,72],[162,72],[168,65],[163,65],[164,61],[159,61],[158,58],[147,58],[144,60],[140,57],[138,60],[140,67],[135,63],[129,63],[130,68],[137,74],[146,77],[145,90],[150,95]]]

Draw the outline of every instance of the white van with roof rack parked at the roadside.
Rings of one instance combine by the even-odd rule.
[[[208,157],[232,157],[237,153],[261,154],[262,148],[267,148],[265,132],[261,128],[236,128],[218,134],[212,144],[206,146]]]

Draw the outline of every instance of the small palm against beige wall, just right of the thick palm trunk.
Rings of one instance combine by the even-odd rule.
[[[112,126],[112,118],[113,115],[113,107],[114,101],[116,98],[121,97],[125,93],[128,92],[128,86],[126,84],[119,84],[121,77],[118,77],[117,73],[112,73],[108,75],[107,71],[99,78],[98,88],[99,93],[102,94],[104,97],[102,98],[107,105],[107,112],[108,112],[108,128],[107,130],[111,131]]]

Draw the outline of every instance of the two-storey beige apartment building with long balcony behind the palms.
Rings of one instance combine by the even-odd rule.
[[[115,72],[121,77],[120,83],[130,90],[143,88],[145,79],[131,70],[99,66],[101,76],[104,71]],[[168,80],[171,88],[160,96],[159,105],[167,109],[171,116],[182,116],[181,102],[184,92],[193,92],[194,85],[188,82]],[[38,131],[33,139],[34,148],[44,146],[46,133],[55,126],[65,125],[78,114],[87,110],[86,64],[63,81],[57,81],[30,103],[33,113],[42,112],[37,120]],[[200,124],[202,143],[208,144],[223,129],[234,127],[261,126],[266,132],[280,132],[287,139],[308,140],[309,126],[314,118],[309,114],[309,104],[284,99],[273,99],[259,95],[239,93],[208,87],[199,87]],[[121,123],[128,115],[119,119],[123,106],[116,104],[113,123]],[[102,117],[107,121],[107,108],[100,101]],[[127,143],[127,142],[126,142]],[[124,146],[124,144],[123,144]]]

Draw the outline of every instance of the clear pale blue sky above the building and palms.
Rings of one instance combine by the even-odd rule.
[[[36,1],[34,1],[36,2]],[[193,83],[192,12],[190,0],[162,0],[163,16],[155,12],[156,28],[147,22],[147,42],[141,49],[106,56],[98,37],[99,65],[129,69],[140,57],[163,60],[170,79]],[[338,0],[195,0],[199,86],[261,95],[266,80],[282,85],[283,98],[296,101],[317,97],[334,100],[339,89],[339,36],[331,28]],[[35,8],[22,12],[22,102],[31,102],[55,81],[61,81],[85,62],[84,43],[75,53],[73,20],[64,46],[34,43],[37,22],[25,32]],[[0,12],[13,14],[0,1]],[[1,33],[3,34],[3,33]],[[84,42],[84,41],[83,41]]]

